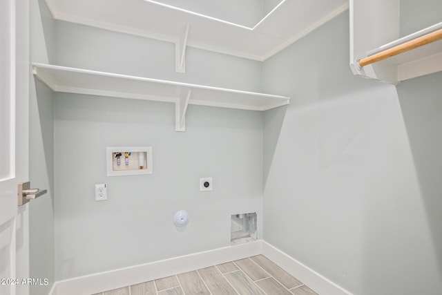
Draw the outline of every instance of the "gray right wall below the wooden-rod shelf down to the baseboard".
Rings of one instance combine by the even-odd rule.
[[[354,294],[441,294],[442,75],[349,70],[345,12],[265,61],[264,239]],[[285,117],[284,117],[285,115]]]

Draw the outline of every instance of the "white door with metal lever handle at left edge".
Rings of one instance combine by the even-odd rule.
[[[28,209],[17,207],[28,181],[28,1],[0,0],[0,38],[0,295],[15,295],[29,276]]]

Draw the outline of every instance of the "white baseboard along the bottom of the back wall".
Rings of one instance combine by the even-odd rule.
[[[182,272],[190,272],[195,269],[261,254],[261,245],[262,242],[260,241],[249,242],[238,246],[202,251],[153,263],[115,269],[110,272],[61,280],[55,283],[57,287],[52,288],[50,295],[95,294],[104,290],[117,289]],[[53,290],[55,290],[55,293],[53,293]]]

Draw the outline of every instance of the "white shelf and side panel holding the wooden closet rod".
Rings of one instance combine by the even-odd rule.
[[[442,71],[442,40],[388,57],[363,68],[358,66],[358,59],[381,53],[442,28],[442,22],[436,23],[398,38],[398,5],[398,1],[350,1],[350,67],[354,75],[397,84],[406,79]],[[383,13],[379,14],[379,10],[383,10]]]

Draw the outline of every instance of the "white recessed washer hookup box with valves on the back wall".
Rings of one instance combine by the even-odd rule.
[[[152,147],[107,147],[106,164],[108,176],[152,174]]]

